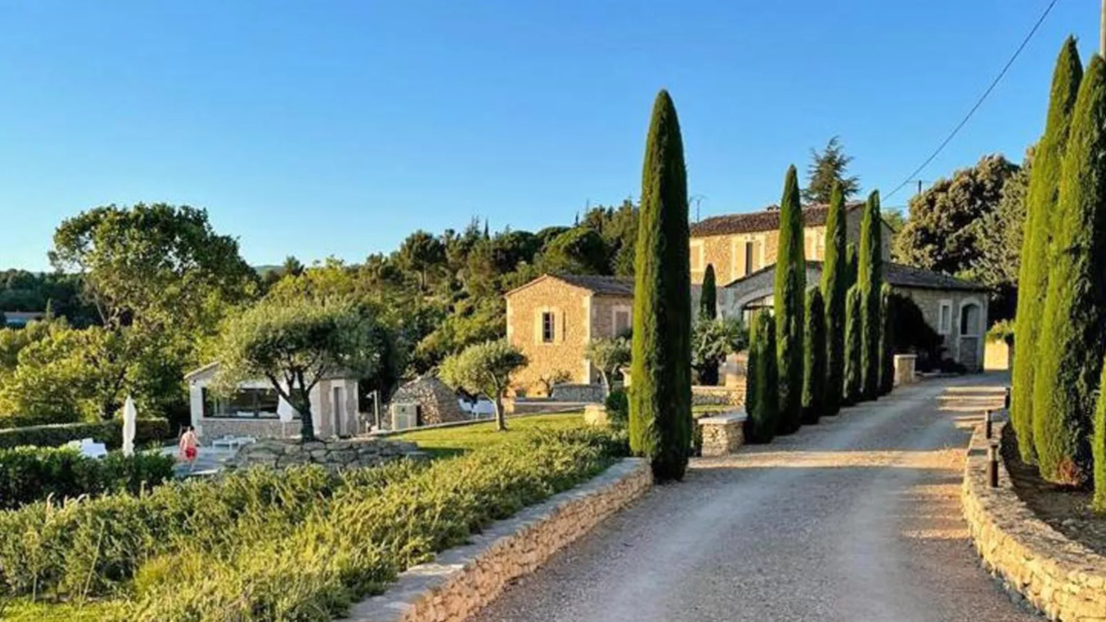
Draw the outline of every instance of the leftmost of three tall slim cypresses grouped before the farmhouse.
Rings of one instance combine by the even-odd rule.
[[[799,173],[787,168],[780,200],[780,241],[775,257],[773,312],[780,365],[780,428],[791,434],[803,424],[803,298],[806,261],[803,258],[803,208]]]

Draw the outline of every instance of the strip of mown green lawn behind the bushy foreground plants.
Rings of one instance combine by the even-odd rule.
[[[531,415],[507,419],[507,432],[495,432],[492,422],[408,432],[394,436],[400,440],[417,443],[419,448],[434,457],[449,457],[463,454],[477,447],[501,443],[529,429],[568,429],[584,425],[584,414],[559,413],[555,415]]]

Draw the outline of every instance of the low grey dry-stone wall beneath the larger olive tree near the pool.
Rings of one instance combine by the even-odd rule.
[[[286,468],[315,464],[337,470],[371,467],[404,457],[422,458],[425,455],[414,443],[375,437],[310,443],[267,438],[239,449],[229,465],[234,468]]]

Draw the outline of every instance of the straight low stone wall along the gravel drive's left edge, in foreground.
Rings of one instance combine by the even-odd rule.
[[[407,570],[342,622],[461,622],[651,485],[648,463],[622,460],[583,486],[495,522],[472,536],[472,543]]]

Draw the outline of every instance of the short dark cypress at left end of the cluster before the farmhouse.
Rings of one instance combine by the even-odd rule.
[[[749,417],[745,419],[745,439],[750,443],[770,443],[780,425],[775,320],[769,313],[758,312],[753,315],[750,334],[745,384],[745,412]]]

